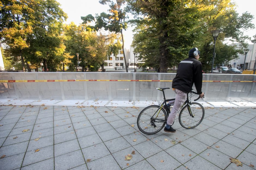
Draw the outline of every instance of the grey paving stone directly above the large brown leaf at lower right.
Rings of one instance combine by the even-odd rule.
[[[217,147],[216,147],[217,146]],[[243,150],[233,146],[231,144],[228,144],[224,141],[218,141],[217,143],[215,143],[212,148],[232,157],[232,158],[236,158]]]

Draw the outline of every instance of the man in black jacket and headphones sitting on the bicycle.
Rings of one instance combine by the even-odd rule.
[[[178,65],[176,77],[172,81],[172,89],[176,93],[172,111],[167,118],[165,132],[175,133],[176,130],[172,128],[173,122],[181,105],[185,102],[187,93],[192,89],[193,84],[196,86],[197,93],[200,98],[204,96],[202,92],[202,64],[198,61],[200,51],[197,48],[192,48],[188,53],[188,58],[182,60]],[[173,101],[171,101],[173,102]],[[172,104],[167,103],[164,109],[169,108]]]

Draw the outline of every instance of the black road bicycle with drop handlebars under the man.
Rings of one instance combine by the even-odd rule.
[[[159,132],[166,124],[167,118],[170,114],[170,108],[165,107],[166,102],[173,101],[173,99],[165,99],[164,90],[170,89],[169,87],[157,88],[163,92],[163,101],[160,105],[151,105],[144,108],[138,116],[137,125],[139,130],[144,134],[155,134]],[[191,89],[190,95],[187,94],[187,100],[181,106],[181,110],[179,112],[179,123],[182,127],[186,129],[192,129],[197,127],[204,118],[205,110],[200,103],[191,102],[191,97],[198,95],[196,92]],[[200,95],[197,99],[200,98]],[[173,105],[173,104],[172,104]],[[174,122],[173,122],[174,123]]]

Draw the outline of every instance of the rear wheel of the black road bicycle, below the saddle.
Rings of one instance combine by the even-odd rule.
[[[152,135],[159,132],[165,125],[167,116],[161,106],[152,105],[144,108],[137,119],[137,125],[142,133]]]

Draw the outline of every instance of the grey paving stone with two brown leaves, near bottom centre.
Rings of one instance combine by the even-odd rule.
[[[135,151],[135,149],[133,147],[129,147],[126,149],[123,149],[121,151],[118,151],[116,153],[113,153],[113,157],[115,158],[115,160],[117,161],[118,165],[121,166],[122,169],[128,167],[127,163],[129,163],[129,166],[138,163],[140,161],[142,161],[144,158],[135,151],[135,154],[132,154],[132,152]],[[125,160],[125,156],[126,155],[132,155],[132,159],[130,160]]]

